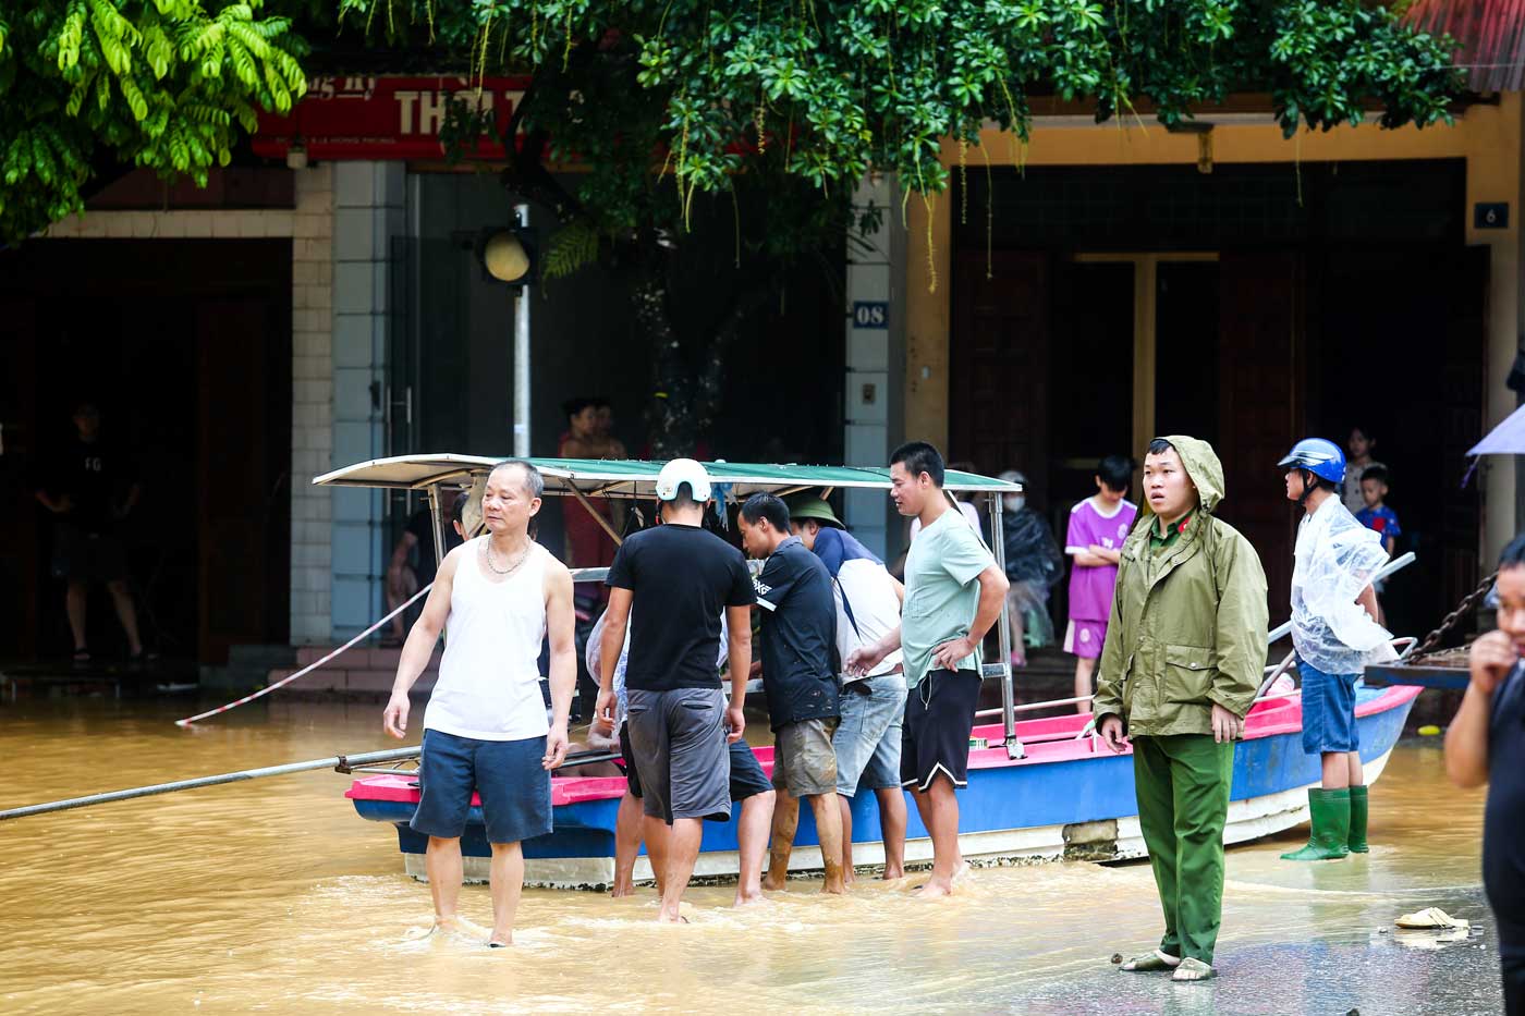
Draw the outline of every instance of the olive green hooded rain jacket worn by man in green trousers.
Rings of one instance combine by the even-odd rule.
[[[1121,717],[1130,737],[1212,734],[1212,703],[1243,717],[1266,665],[1266,572],[1249,540],[1212,516],[1223,464],[1206,441],[1165,439],[1202,506],[1151,548],[1159,522],[1145,499],[1122,545],[1092,711],[1098,726]]]

